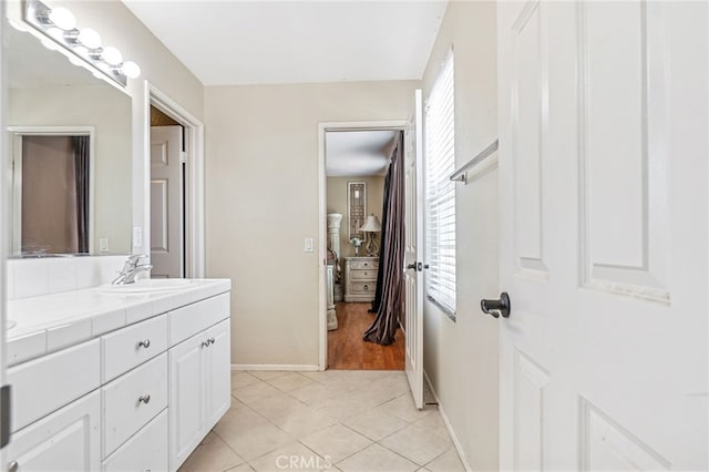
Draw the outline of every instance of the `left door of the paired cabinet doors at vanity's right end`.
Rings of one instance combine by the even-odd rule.
[[[177,470],[203,437],[205,336],[196,335],[168,352],[169,469]]]

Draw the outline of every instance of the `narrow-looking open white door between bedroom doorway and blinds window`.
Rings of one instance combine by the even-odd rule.
[[[423,112],[421,90],[415,91],[415,111],[407,130],[405,165],[405,370],[417,408],[423,408]]]

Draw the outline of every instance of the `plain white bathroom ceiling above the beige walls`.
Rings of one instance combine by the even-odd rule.
[[[123,0],[204,85],[419,80],[446,0]]]

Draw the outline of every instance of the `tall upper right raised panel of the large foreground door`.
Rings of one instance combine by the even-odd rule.
[[[579,215],[586,287],[668,302],[670,58],[654,39],[666,35],[661,10],[637,2],[578,7]],[[620,24],[624,33],[607,41]]]

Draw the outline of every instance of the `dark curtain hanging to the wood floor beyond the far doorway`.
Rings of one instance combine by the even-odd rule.
[[[401,283],[404,256],[404,162],[403,133],[394,145],[387,178],[382,212],[381,253],[373,308],[377,316],[364,332],[364,340],[379,345],[394,341],[401,314]],[[374,305],[376,304],[376,305]]]

